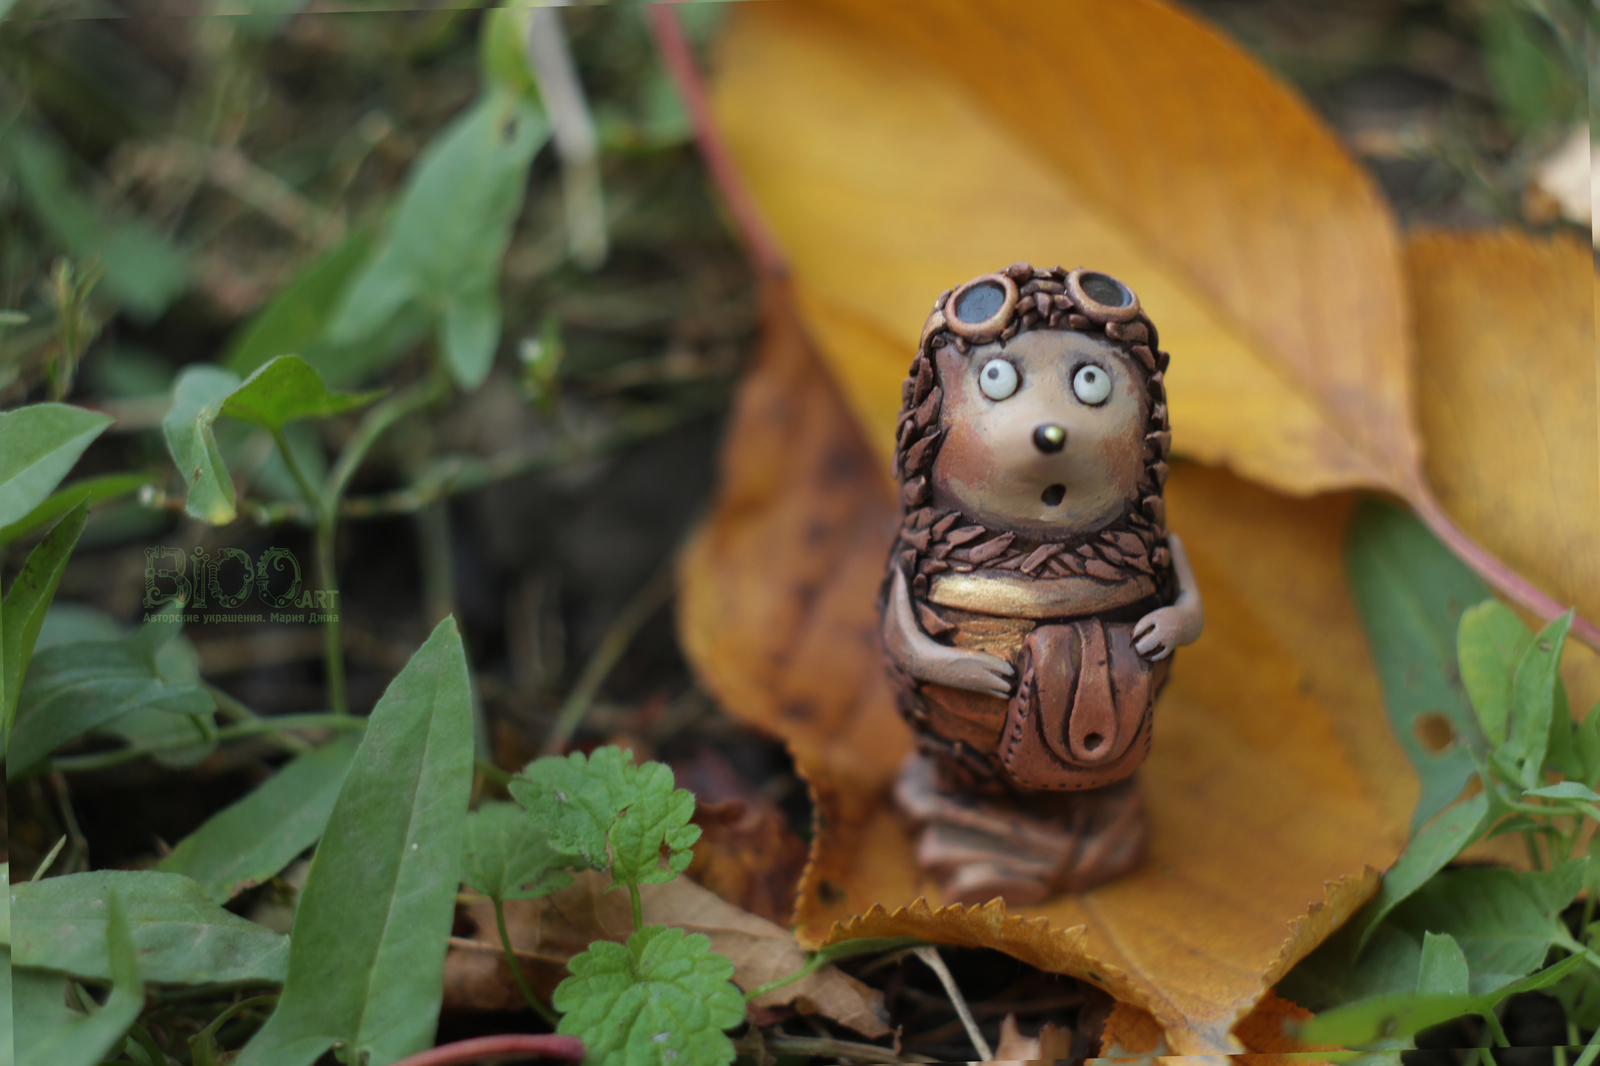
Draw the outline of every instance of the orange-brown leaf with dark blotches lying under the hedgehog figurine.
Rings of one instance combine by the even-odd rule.
[[[1206,632],[1157,711],[1149,861],[1042,908],[941,908],[885,794],[910,746],[875,637],[886,479],[781,295],[768,303],[723,498],[685,555],[680,632],[723,706],[782,736],[813,787],[802,941],[997,948],[1147,1010],[1179,1053],[1238,1050],[1234,1024],[1376,888],[1416,799],[1344,589],[1350,499],[1174,467],[1168,514]]]

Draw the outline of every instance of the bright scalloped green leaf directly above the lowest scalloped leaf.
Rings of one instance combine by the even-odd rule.
[[[674,789],[659,762],[635,767],[630,759],[613,746],[587,757],[546,755],[523,768],[510,794],[565,855],[610,869],[619,885],[664,884],[690,864],[699,840],[699,826],[690,824],[694,795]]]

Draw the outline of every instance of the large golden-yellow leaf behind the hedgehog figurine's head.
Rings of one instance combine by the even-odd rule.
[[[739,5],[717,120],[845,399],[888,456],[934,296],[1109,271],[1181,355],[1176,443],[1264,485],[1411,495],[1402,256],[1371,181],[1160,0]]]

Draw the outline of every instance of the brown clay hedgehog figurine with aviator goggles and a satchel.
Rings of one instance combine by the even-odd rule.
[[[894,789],[950,903],[1037,903],[1142,856],[1133,779],[1200,592],[1166,531],[1155,325],[1107,274],[1014,262],[939,296],[902,389],[883,647]]]

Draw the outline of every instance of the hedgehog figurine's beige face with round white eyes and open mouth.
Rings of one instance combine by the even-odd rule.
[[[933,503],[994,528],[1066,539],[1115,522],[1144,472],[1146,387],[1109,341],[1032,330],[938,351]]]

